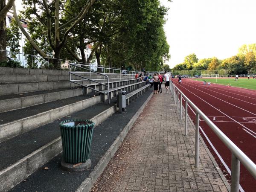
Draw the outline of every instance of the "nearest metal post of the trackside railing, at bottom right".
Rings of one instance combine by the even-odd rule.
[[[231,161],[231,192],[239,192],[240,161],[232,153]]]

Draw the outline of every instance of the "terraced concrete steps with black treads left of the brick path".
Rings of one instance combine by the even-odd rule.
[[[84,76],[100,78],[97,74]],[[127,126],[137,107],[150,96],[149,92],[144,92],[145,82],[119,74],[108,74],[108,77],[110,104],[102,102],[102,96],[90,88],[73,84],[70,89],[68,71],[0,67],[0,191],[63,191],[58,185],[55,188],[54,178],[58,178],[57,183],[75,180],[76,186],[71,191],[79,188]],[[103,79],[98,81],[105,83]],[[83,84],[100,89],[100,84],[91,81],[83,81]],[[128,106],[129,112],[120,115],[115,113],[117,90],[128,93],[138,90],[137,96],[143,95],[137,98],[137,104]],[[66,119],[91,119],[96,123],[90,152],[92,169],[88,171],[68,173],[59,167],[62,146],[58,124]],[[44,169],[46,165],[52,166],[49,172]],[[47,177],[41,175],[48,173]],[[38,177],[43,179],[41,183],[35,183]],[[44,182],[48,182],[48,188],[42,186]]]

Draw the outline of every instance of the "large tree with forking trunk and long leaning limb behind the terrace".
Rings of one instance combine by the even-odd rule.
[[[60,58],[62,49],[65,47],[67,39],[70,32],[75,26],[77,26],[86,17],[89,9],[93,6],[96,0],[86,0],[84,1],[84,6],[77,15],[70,16],[69,20],[63,22],[62,16],[65,10],[61,10],[61,6],[64,6],[60,0],[55,0],[52,2],[47,2],[47,0],[38,1],[25,1],[27,6],[27,14],[35,15],[38,22],[44,25],[47,29],[47,40],[49,45],[54,51],[54,58],[52,60],[56,69],[60,68]],[[66,2],[64,2],[66,3]],[[16,7],[13,5],[14,17],[20,27],[20,30],[26,36],[32,47],[38,52],[42,57],[49,57],[44,51],[42,51],[32,37],[25,31],[21,25],[19,18],[16,13]],[[47,19],[47,22],[46,20]],[[52,24],[54,23],[54,25]]]

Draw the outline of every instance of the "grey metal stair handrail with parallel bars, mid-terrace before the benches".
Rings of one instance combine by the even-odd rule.
[[[79,68],[81,68],[81,69],[88,70],[88,71],[90,71],[90,72],[93,72],[93,73],[96,73],[96,74],[99,74],[99,75],[102,75],[102,76],[107,77],[107,85],[104,84],[104,83],[101,83],[101,82],[99,82],[99,81],[95,81],[95,80],[93,80],[93,79],[88,79],[87,77],[80,76],[80,75],[77,75],[76,73],[71,72],[71,67],[70,67],[70,65],[75,66],[75,67],[79,67]],[[97,91],[97,92],[99,92],[99,93],[103,93],[103,94],[105,94],[105,95],[108,95],[108,104],[110,104],[110,97],[109,97],[109,79],[108,79],[108,76],[107,76],[107,75],[102,74],[102,73],[98,73],[98,72],[93,71],[93,70],[86,69],[86,68],[84,68],[84,67],[79,66],[78,64],[69,63],[68,66],[69,66],[69,74],[70,74],[70,89],[72,88],[72,83],[79,84],[79,85],[81,85],[82,87],[87,87],[87,88],[89,88],[89,89],[91,89],[91,90],[95,90],[95,91]],[[83,73],[83,72],[81,72],[81,73]],[[74,82],[74,81],[71,79],[71,74],[73,74],[74,76],[79,76],[79,77],[81,77],[81,78],[84,78],[84,79],[87,79],[87,80],[90,80],[90,81],[93,81],[93,82],[96,82],[96,83],[99,83],[99,84],[101,84],[101,85],[106,86],[106,87],[108,88],[108,93],[105,93],[105,92],[103,92],[103,91],[101,91],[101,90],[93,89],[92,87],[88,87],[88,86],[86,86],[86,85],[84,85],[84,84],[80,84],[80,83]]]

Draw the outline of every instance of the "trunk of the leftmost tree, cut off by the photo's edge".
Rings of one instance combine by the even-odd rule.
[[[3,9],[5,1],[0,1],[0,10]],[[6,15],[0,17],[0,50],[6,50]],[[6,52],[0,51],[0,61],[6,61]]]

